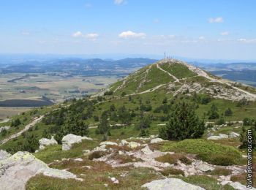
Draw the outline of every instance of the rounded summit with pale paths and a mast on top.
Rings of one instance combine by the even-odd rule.
[[[220,99],[256,99],[254,88],[210,75],[200,68],[173,58],[165,58],[145,66],[113,83],[107,90],[113,91],[115,95],[165,91],[173,96],[184,92],[197,92]]]

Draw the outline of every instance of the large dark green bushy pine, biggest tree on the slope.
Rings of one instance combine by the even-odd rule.
[[[176,104],[169,123],[160,129],[159,135],[165,140],[184,140],[202,137],[204,129],[204,122],[195,114],[195,107],[181,102]]]

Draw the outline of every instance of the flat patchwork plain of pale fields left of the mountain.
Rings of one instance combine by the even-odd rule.
[[[5,107],[0,107],[0,119],[16,115],[34,106],[48,105],[49,100],[59,103],[64,99],[93,94],[116,80],[116,76],[66,77],[63,73],[1,74],[0,105]],[[47,100],[42,100],[42,96]]]

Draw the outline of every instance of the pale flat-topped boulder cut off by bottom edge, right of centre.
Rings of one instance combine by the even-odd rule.
[[[203,190],[203,188],[200,186],[192,185],[190,183],[184,182],[184,180],[177,178],[152,180],[150,183],[146,183],[141,187],[148,190]]]

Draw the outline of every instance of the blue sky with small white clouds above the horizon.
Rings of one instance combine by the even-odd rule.
[[[0,53],[256,60],[255,0],[0,0]]]

